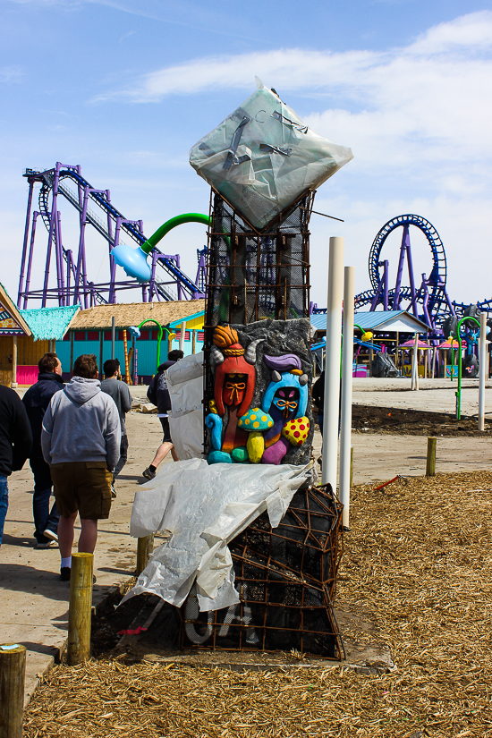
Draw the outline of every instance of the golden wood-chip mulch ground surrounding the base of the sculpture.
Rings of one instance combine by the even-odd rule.
[[[47,674],[24,736],[492,736],[492,474],[376,486],[352,489],[335,606],[369,613],[393,672],[234,673],[106,657]]]

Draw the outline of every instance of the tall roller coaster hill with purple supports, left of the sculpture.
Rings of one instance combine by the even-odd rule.
[[[40,301],[41,307],[46,307],[48,301],[52,304],[55,301],[60,307],[80,304],[87,309],[98,304],[115,303],[121,293],[136,288],[141,290],[144,302],[196,300],[204,296],[205,248],[197,250],[199,266],[195,280],[182,271],[179,254],[165,254],[156,247],[151,253],[150,278],[146,284],[132,278],[116,278],[115,259],[109,254],[124,242],[133,242],[137,246],[147,242],[143,223],[125,218],[111,202],[110,191],[92,187],[82,176],[80,165],[57,162],[52,169],[26,169],[23,176],[29,182],[29,194],[17,300],[20,308],[28,308],[29,301]],[[38,187],[38,209],[32,211],[35,188]],[[61,199],[78,213],[79,236],[75,251],[64,246],[62,212],[59,209]],[[39,219],[46,226],[47,237],[46,233],[43,238],[39,229],[37,231]],[[179,218],[175,220],[178,222]],[[109,275],[106,282],[97,282],[89,275],[86,253],[88,226],[106,242]],[[45,264],[42,284],[38,286],[31,284],[37,276],[33,274],[37,272],[36,268],[33,269],[35,248],[41,250]]]

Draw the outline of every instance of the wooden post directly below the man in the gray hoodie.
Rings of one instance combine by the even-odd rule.
[[[67,662],[76,666],[90,657],[93,554],[72,554],[68,610]]]

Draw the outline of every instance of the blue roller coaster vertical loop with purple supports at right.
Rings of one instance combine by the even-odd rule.
[[[389,285],[389,260],[381,260],[383,246],[390,235],[398,229],[402,230],[402,241],[396,269],[396,280],[393,288]],[[432,268],[429,276],[422,274],[420,286],[414,270],[411,254],[411,230],[418,229],[424,234],[430,250]],[[403,273],[408,275],[408,285],[403,284]],[[484,300],[474,305],[451,301],[446,290],[447,263],[445,248],[434,225],[424,217],[417,215],[396,216],[384,225],[377,233],[369,251],[369,279],[371,289],[355,297],[355,311],[358,310],[409,310],[416,318],[420,318],[431,330],[428,339],[437,345],[443,338],[456,335],[461,318],[478,318],[480,312],[492,313],[492,300]],[[313,312],[326,312],[314,306]],[[492,316],[491,316],[492,318]],[[488,319],[488,327],[492,328],[492,320]],[[462,337],[477,333],[474,321],[462,323]],[[476,344],[476,342],[475,342]]]

